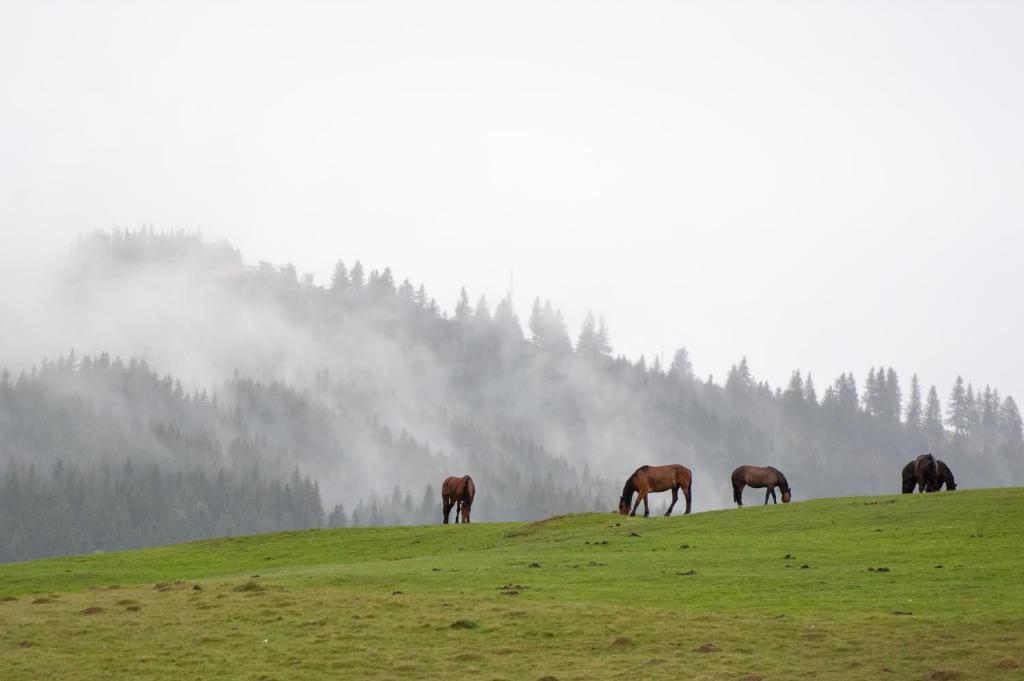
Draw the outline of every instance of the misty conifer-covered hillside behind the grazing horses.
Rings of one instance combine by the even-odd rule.
[[[642,464],[691,468],[696,511],[731,504],[744,463],[797,500],[896,493],[925,452],[964,487],[1024,482],[1016,402],[955,367],[944,386],[859,357],[783,386],[741,357],[696,376],[685,347],[616,355],[594,315],[570,330],[548,301],[465,291],[450,307],[383,264],[339,260],[322,285],[142,229],[0,274],[0,560],[438,522],[463,473],[481,521],[611,511]]]

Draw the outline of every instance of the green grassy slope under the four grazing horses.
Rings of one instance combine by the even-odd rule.
[[[1006,488],[0,565],[0,679],[1022,679],[1022,530]]]

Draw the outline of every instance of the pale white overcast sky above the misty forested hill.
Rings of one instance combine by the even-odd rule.
[[[200,229],[593,307],[701,375],[1024,397],[1022,35],[1010,2],[5,0],[0,263]]]

